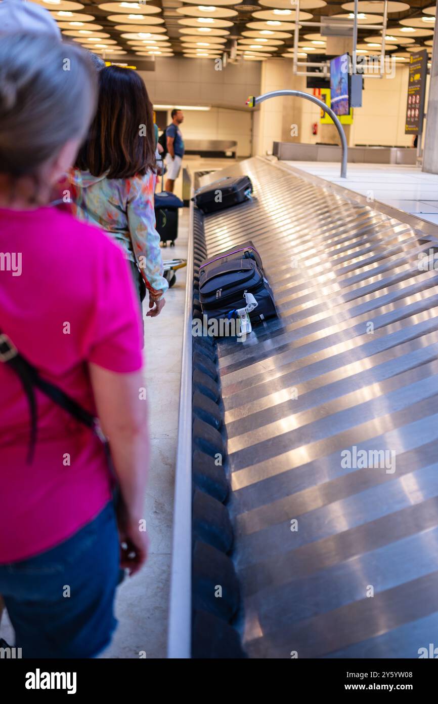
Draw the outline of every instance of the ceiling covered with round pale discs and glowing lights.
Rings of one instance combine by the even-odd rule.
[[[137,61],[176,55],[262,61],[291,58],[295,7],[291,0],[139,0],[89,2],[34,0],[51,11],[65,37],[114,61]],[[352,21],[354,2],[301,0],[299,22],[321,18]],[[435,6],[430,0],[389,0],[386,50],[399,56],[432,49]],[[358,52],[380,53],[383,23],[381,0],[359,0]],[[374,25],[375,29],[363,25]],[[326,37],[318,26],[300,24],[299,58],[323,55]],[[406,58],[406,60],[408,60]]]

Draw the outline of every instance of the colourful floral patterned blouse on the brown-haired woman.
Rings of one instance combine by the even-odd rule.
[[[72,169],[69,178],[78,220],[100,225],[123,247],[127,259],[139,265],[154,298],[164,295],[169,284],[162,275],[160,235],[155,230],[155,174],[108,179]]]

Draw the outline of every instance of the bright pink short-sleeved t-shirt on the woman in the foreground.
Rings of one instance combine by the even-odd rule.
[[[141,369],[139,299],[117,244],[56,208],[0,208],[0,332],[95,412],[87,363]],[[72,536],[110,499],[100,441],[40,391],[34,460],[30,413],[15,372],[0,363],[0,564]]]

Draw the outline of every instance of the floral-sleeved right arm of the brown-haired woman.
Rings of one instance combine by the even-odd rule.
[[[151,298],[159,301],[169,284],[162,275],[160,235],[155,230],[153,173],[148,171],[129,182],[127,216],[134,254]]]

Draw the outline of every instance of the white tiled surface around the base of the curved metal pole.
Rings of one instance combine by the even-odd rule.
[[[396,164],[348,164],[347,178],[342,179],[339,163],[321,161],[285,161],[283,163],[438,225],[438,175],[423,172],[419,167]]]

